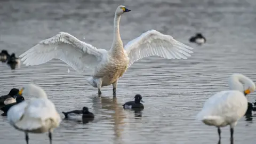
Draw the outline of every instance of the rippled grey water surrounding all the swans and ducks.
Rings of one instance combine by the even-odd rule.
[[[60,114],[89,107],[94,121],[62,121],[53,133],[55,144],[217,143],[217,129],[196,121],[195,116],[207,98],[228,89],[230,74],[242,73],[256,81],[254,0],[0,1],[0,49],[20,55],[42,39],[65,31],[108,50],[118,5],[132,10],[121,18],[124,44],[156,29],[194,47],[193,57],[150,57],[135,62],[119,79],[116,98],[111,85],[103,87],[98,97],[97,89],[85,81],[90,70],[77,73],[60,60],[15,70],[0,63],[1,95],[35,83],[43,87]],[[188,43],[197,32],[207,38],[206,44]],[[135,94],[145,101],[141,117],[122,108]],[[256,94],[248,99],[254,101]],[[239,120],[234,143],[255,143],[255,119]],[[229,143],[229,137],[229,127],[224,127],[222,143]],[[0,143],[26,143],[25,134],[14,130],[2,116]],[[30,134],[30,143],[49,143],[49,139],[47,134]]]

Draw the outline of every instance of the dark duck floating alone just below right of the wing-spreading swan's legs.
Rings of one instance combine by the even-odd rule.
[[[123,105],[124,109],[143,109],[144,106],[141,102],[144,102],[142,100],[142,97],[140,94],[136,94],[134,97],[134,101],[128,101],[125,102]]]

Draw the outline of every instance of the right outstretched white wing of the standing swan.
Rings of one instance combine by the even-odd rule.
[[[187,59],[193,53],[192,47],[182,44],[169,35],[149,30],[124,46],[130,58],[129,67],[135,61],[153,55],[167,59]]]

